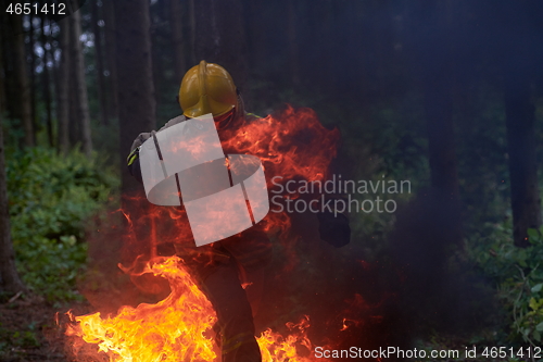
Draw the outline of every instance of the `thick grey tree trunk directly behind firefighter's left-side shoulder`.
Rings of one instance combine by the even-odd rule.
[[[122,191],[140,189],[126,167],[126,157],[139,133],[155,128],[149,1],[118,0],[115,5]]]

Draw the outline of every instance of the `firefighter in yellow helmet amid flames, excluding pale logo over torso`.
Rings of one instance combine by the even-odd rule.
[[[182,78],[178,102],[184,110],[182,115],[168,121],[160,130],[211,113],[220,136],[222,129],[237,129],[244,122],[257,118],[245,113],[243,100],[230,74],[220,65],[205,61],[190,68]],[[129,171],[140,182],[139,148],[149,137],[151,133],[140,134],[128,155]],[[328,212],[317,216],[323,240],[336,247],[349,242],[351,230],[344,215],[334,217]],[[217,313],[218,322],[214,329],[222,349],[222,361],[262,361],[254,337],[254,311],[248,299],[248,294],[258,295],[257,288],[262,284],[257,279],[262,282],[263,266],[272,257],[272,245],[261,225],[199,248],[180,244],[174,246],[176,254],[185,261]],[[255,283],[245,292],[242,284],[247,282]],[[252,302],[258,300],[257,297],[250,299]]]

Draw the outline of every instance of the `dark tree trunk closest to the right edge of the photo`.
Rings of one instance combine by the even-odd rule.
[[[535,66],[533,49],[540,47],[529,26],[523,2],[505,2],[501,10],[510,23],[504,27],[503,72],[505,116],[509,155],[513,238],[517,247],[528,247],[528,228],[541,226],[541,198],[535,157],[535,107],[531,103],[531,82]],[[532,7],[533,8],[533,7]],[[509,34],[517,36],[510,37]]]

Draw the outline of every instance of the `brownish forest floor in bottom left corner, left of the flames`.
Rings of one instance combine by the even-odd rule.
[[[0,303],[0,361],[72,361],[66,338],[56,324],[56,315],[66,320],[64,313],[68,310],[84,314],[90,304],[51,304],[38,296]]]

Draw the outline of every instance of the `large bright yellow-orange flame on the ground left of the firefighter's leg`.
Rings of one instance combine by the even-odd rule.
[[[168,279],[169,296],[156,304],[123,307],[115,317],[99,313],[75,316],[67,335],[79,336],[106,352],[110,361],[213,361],[213,340],[204,336],[215,312],[179,259],[159,258],[143,273]]]

